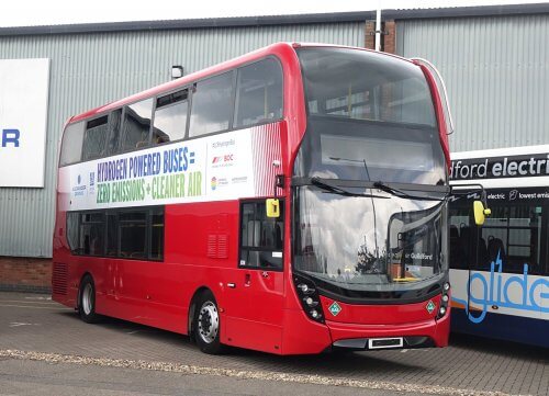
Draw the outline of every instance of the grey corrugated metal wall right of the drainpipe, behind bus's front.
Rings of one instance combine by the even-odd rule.
[[[452,151],[549,143],[549,15],[397,21],[396,50],[432,60]]]

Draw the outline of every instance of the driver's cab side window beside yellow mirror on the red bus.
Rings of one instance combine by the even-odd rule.
[[[280,217],[269,218],[265,201],[242,204],[239,267],[282,269],[282,204],[280,211]]]

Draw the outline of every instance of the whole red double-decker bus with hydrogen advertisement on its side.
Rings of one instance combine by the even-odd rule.
[[[278,354],[445,347],[437,77],[274,44],[70,118],[53,298]]]

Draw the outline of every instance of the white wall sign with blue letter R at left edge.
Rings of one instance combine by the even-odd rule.
[[[49,59],[0,59],[0,188],[44,186]]]

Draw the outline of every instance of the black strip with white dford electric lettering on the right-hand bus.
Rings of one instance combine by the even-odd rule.
[[[451,161],[451,180],[528,178],[549,176],[549,152]]]

